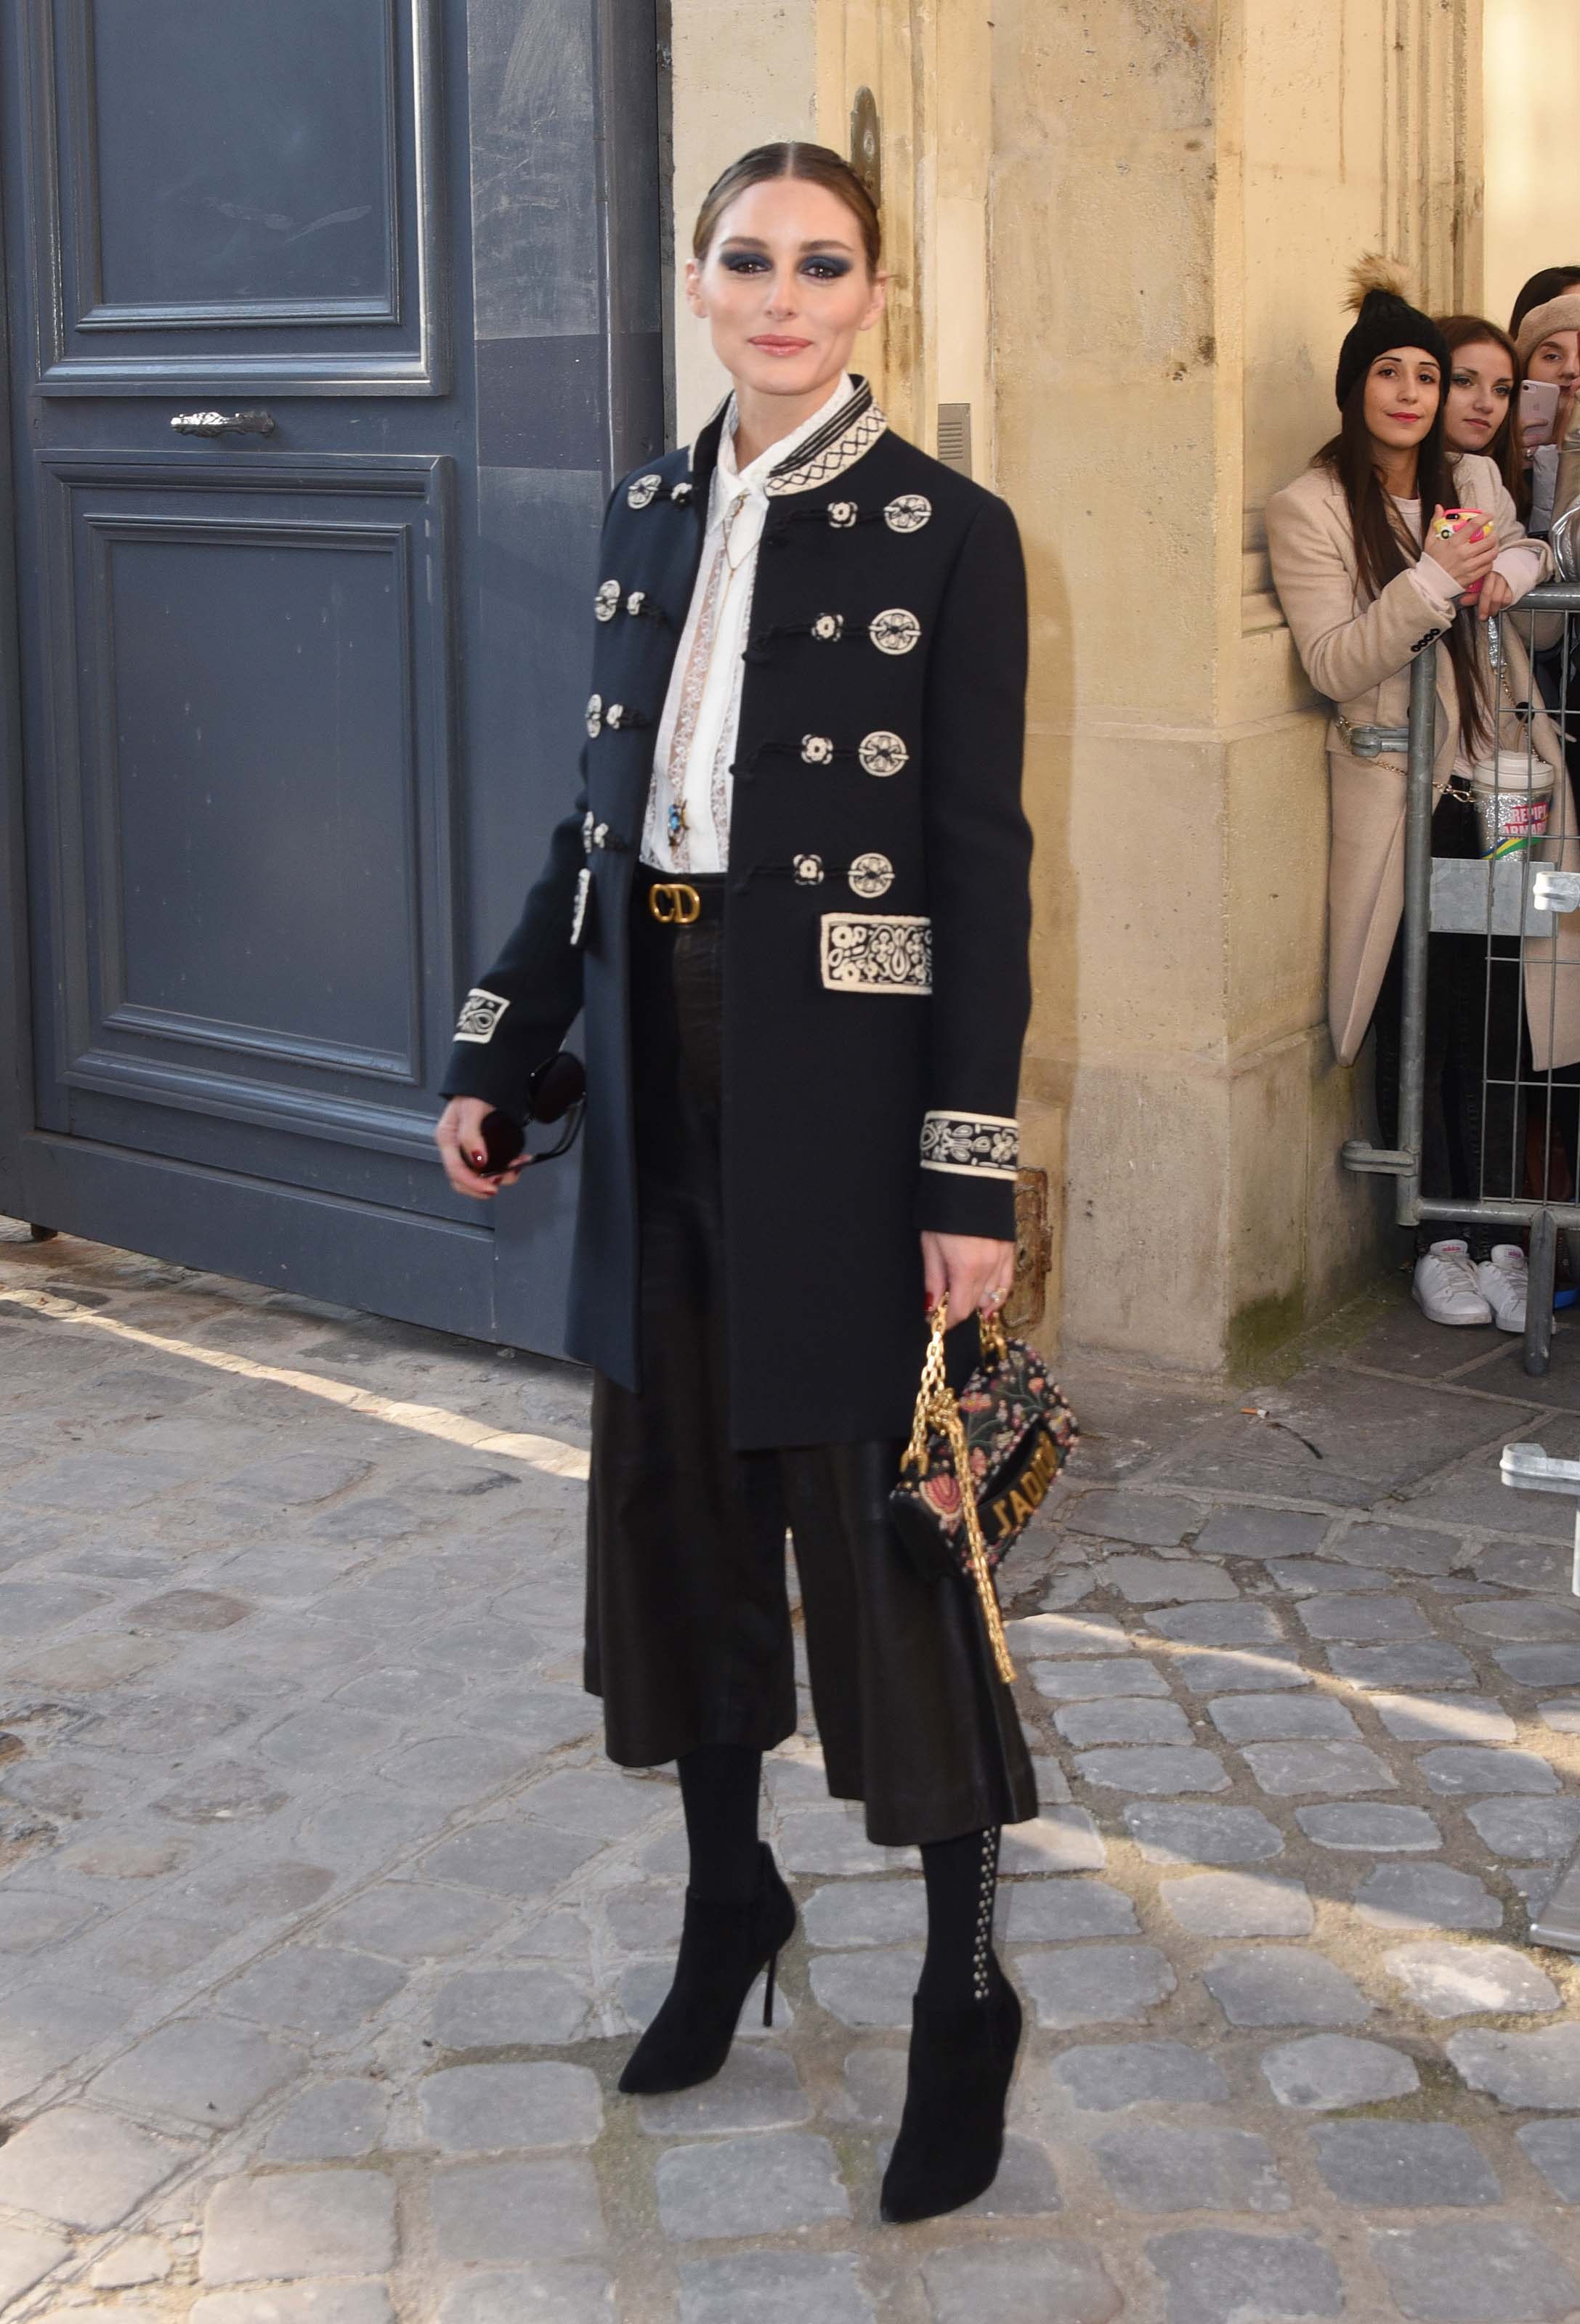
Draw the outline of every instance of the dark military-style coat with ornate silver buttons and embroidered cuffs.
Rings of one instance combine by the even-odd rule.
[[[627,913],[720,425],[609,502],[581,792],[444,1078],[523,1113],[586,1009],[569,1350],[634,1390]],[[767,490],[725,888],[739,1448],[909,1432],[918,1227],[1015,1232],[1029,1009],[1013,516],[897,437],[864,383]]]

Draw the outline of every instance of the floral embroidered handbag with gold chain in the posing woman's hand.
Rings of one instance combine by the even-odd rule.
[[[1036,1515],[1080,1443],[1076,1415],[1036,1348],[1008,1339],[999,1315],[981,1315],[981,1362],[960,1397],[948,1385],[948,1299],[932,1311],[932,1341],[899,1462],[890,1515],[929,1573],[974,1583],[999,1678],[1015,1676],[992,1587],[994,1569]]]

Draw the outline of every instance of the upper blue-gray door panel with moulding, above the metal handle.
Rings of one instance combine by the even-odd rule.
[[[439,393],[432,0],[35,0],[53,393]]]

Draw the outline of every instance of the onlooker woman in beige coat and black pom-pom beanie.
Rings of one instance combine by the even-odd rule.
[[[1492,460],[1455,460],[1443,444],[1448,346],[1438,325],[1406,304],[1385,279],[1359,281],[1357,323],[1343,342],[1336,395],[1338,437],[1266,511],[1273,581],[1310,683],[1334,702],[1329,725],[1329,1025],[1348,1064],[1378,1025],[1378,1106],[1382,1134],[1396,1129],[1396,1046],[1403,913],[1403,753],[1359,758],[1350,734],[1362,725],[1401,727],[1408,716],[1410,662],[1436,655],[1434,797],[1503,748],[1524,748],[1527,723],[1515,711],[1531,695],[1529,660],[1506,623],[1506,674],[1494,704],[1485,621],[1547,576],[1547,551],[1520,530],[1513,500]],[[1443,507],[1482,511],[1450,539],[1436,532]],[[1422,514],[1427,544],[1422,548]],[[1462,593],[1480,583],[1473,611]],[[1536,755],[1554,772],[1554,827],[1573,834],[1575,813],[1564,760],[1545,716],[1529,720]],[[1443,806],[1441,806],[1443,813]],[[1571,848],[1566,848],[1568,858]],[[1580,848],[1573,848],[1580,865]],[[1527,939],[1524,1023],[1536,1071],[1580,1057],[1580,930],[1557,923],[1554,939]],[[1499,962],[1492,962],[1492,971]],[[1480,1027],[1489,974],[1482,939],[1431,939],[1429,948],[1429,1192],[1473,1197],[1482,1190],[1485,1122],[1480,1113]],[[1480,985],[1475,983],[1480,978]],[[1517,976],[1513,985],[1517,1027]],[[1496,983],[1496,981],[1494,981]],[[1471,1039],[1471,1027],[1475,1039]],[[1392,1071],[1389,1071],[1392,1067]],[[1392,1083],[1392,1088],[1389,1088]],[[1436,1125],[1436,1136],[1434,1136]],[[1510,1162],[1501,1155],[1503,1176]],[[1487,1176],[1492,1157],[1487,1157]],[[1434,1183],[1434,1178],[1438,1183]],[[1441,1183],[1448,1181],[1448,1183]],[[1487,1192],[1520,1192],[1487,1185]],[[1482,1246],[1485,1248],[1485,1246]],[[1517,1246],[1475,1262],[1459,1236],[1422,1253],[1415,1297],[1441,1322],[1524,1327],[1524,1257]]]

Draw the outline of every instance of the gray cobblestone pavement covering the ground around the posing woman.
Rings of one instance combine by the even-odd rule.
[[[788,2015],[613,2089],[683,1848],[579,1692],[583,1378],[0,1225],[0,2315],[1580,2317],[1580,1964],[1524,1943],[1573,1506],[1496,1480],[1580,1450],[1580,1334],[1531,1383],[1378,1308],[1287,1427],[1066,1385],[1006,1569],[1036,2031],[992,2196],[897,2231],[920,1880],[811,1731]]]

